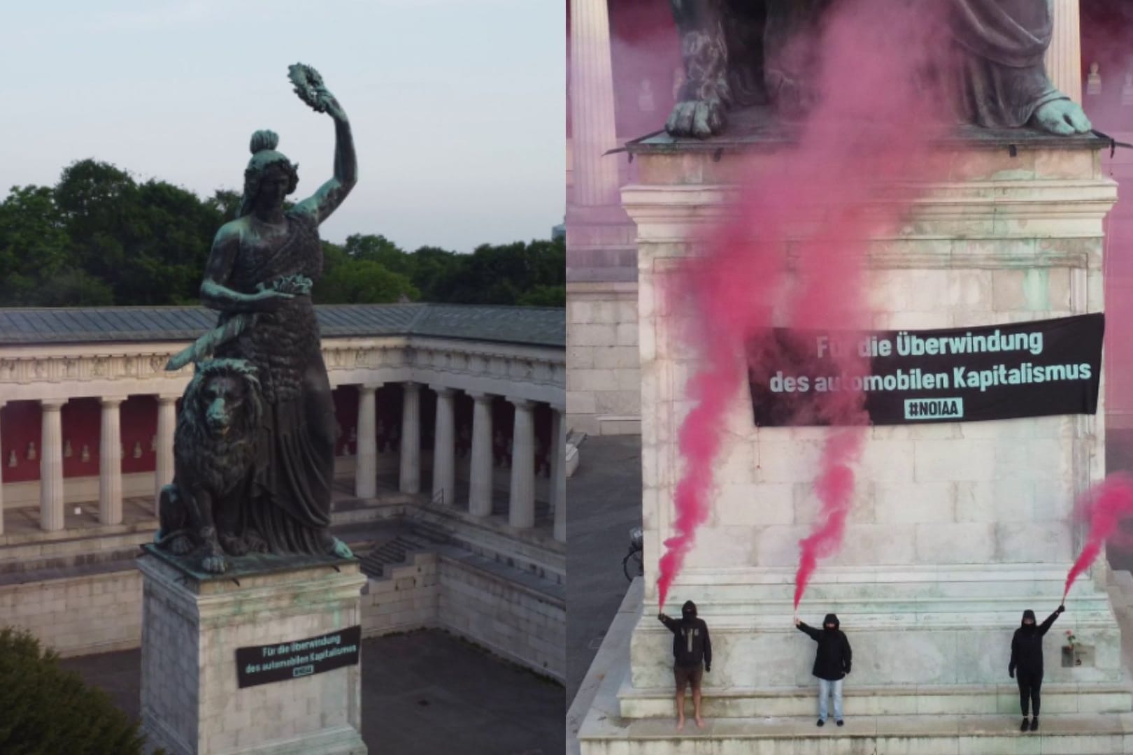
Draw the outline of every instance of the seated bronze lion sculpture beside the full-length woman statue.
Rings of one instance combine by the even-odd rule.
[[[245,531],[241,506],[256,456],[263,396],[256,369],[242,359],[197,364],[185,389],[173,443],[173,481],[161,490],[155,535],[172,554],[199,556],[219,574],[224,558],[265,550]]]

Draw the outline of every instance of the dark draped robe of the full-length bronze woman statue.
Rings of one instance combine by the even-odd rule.
[[[280,276],[318,280],[317,225],[298,213],[288,213],[287,222],[288,235],[274,248],[241,248],[231,288],[252,293],[256,284]],[[327,552],[334,410],[310,298],[296,297],[274,312],[257,314],[253,326],[216,355],[255,364],[265,398],[244,529],[266,540],[272,552]]]

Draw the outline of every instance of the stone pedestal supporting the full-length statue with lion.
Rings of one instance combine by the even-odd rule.
[[[265,558],[267,568],[208,578],[146,549],[142,723],[151,746],[170,755],[366,754],[359,666],[240,688],[236,658],[240,647],[360,624],[357,561]]]

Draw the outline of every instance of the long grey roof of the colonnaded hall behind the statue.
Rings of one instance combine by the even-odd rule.
[[[323,337],[416,335],[566,346],[562,308],[482,304],[316,304]],[[216,324],[204,307],[0,308],[0,346],[191,341]]]

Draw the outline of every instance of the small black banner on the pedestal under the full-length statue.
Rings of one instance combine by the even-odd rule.
[[[298,679],[358,663],[361,627],[274,645],[236,649],[239,686],[255,687],[269,681]]]

